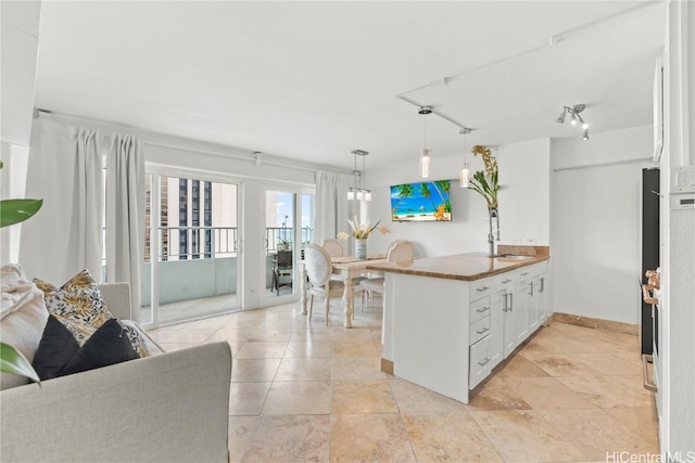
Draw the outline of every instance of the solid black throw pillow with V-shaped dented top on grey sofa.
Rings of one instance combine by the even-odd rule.
[[[124,326],[116,319],[106,320],[80,347],[65,325],[51,316],[33,364],[45,381],[137,358]]]

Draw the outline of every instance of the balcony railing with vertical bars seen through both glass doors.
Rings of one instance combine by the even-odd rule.
[[[150,261],[150,233],[146,229],[146,261]],[[239,230],[236,227],[160,227],[160,249],[157,257],[164,260],[214,259],[236,257]],[[311,243],[314,229],[301,229],[301,243]],[[294,242],[292,229],[268,227],[265,229],[266,253],[275,253],[278,245]]]

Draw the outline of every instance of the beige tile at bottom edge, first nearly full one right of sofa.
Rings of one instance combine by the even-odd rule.
[[[261,416],[242,461],[328,461],[329,439],[329,415]]]

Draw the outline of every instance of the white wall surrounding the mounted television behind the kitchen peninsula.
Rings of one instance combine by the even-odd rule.
[[[416,153],[417,154],[417,153]],[[496,244],[519,244],[532,241],[539,245],[549,243],[549,141],[533,140],[501,145],[493,155],[500,166],[500,229]],[[471,172],[482,170],[483,163],[469,152],[467,160]],[[458,172],[464,154],[443,156],[434,153],[430,180],[452,180],[451,222],[392,222],[390,187],[419,182],[418,158],[413,163],[368,171],[367,188],[374,191],[368,203],[368,217],[381,220],[391,228],[386,236],[372,234],[369,253],[383,253],[395,239],[415,243],[419,257],[448,254],[488,252],[488,208],[485,201],[472,190],[458,187]],[[368,166],[367,166],[368,167]],[[345,223],[345,227],[348,224]]]

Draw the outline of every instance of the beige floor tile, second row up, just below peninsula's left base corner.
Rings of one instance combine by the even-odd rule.
[[[331,413],[399,412],[387,380],[333,381],[330,384],[330,391]]]

